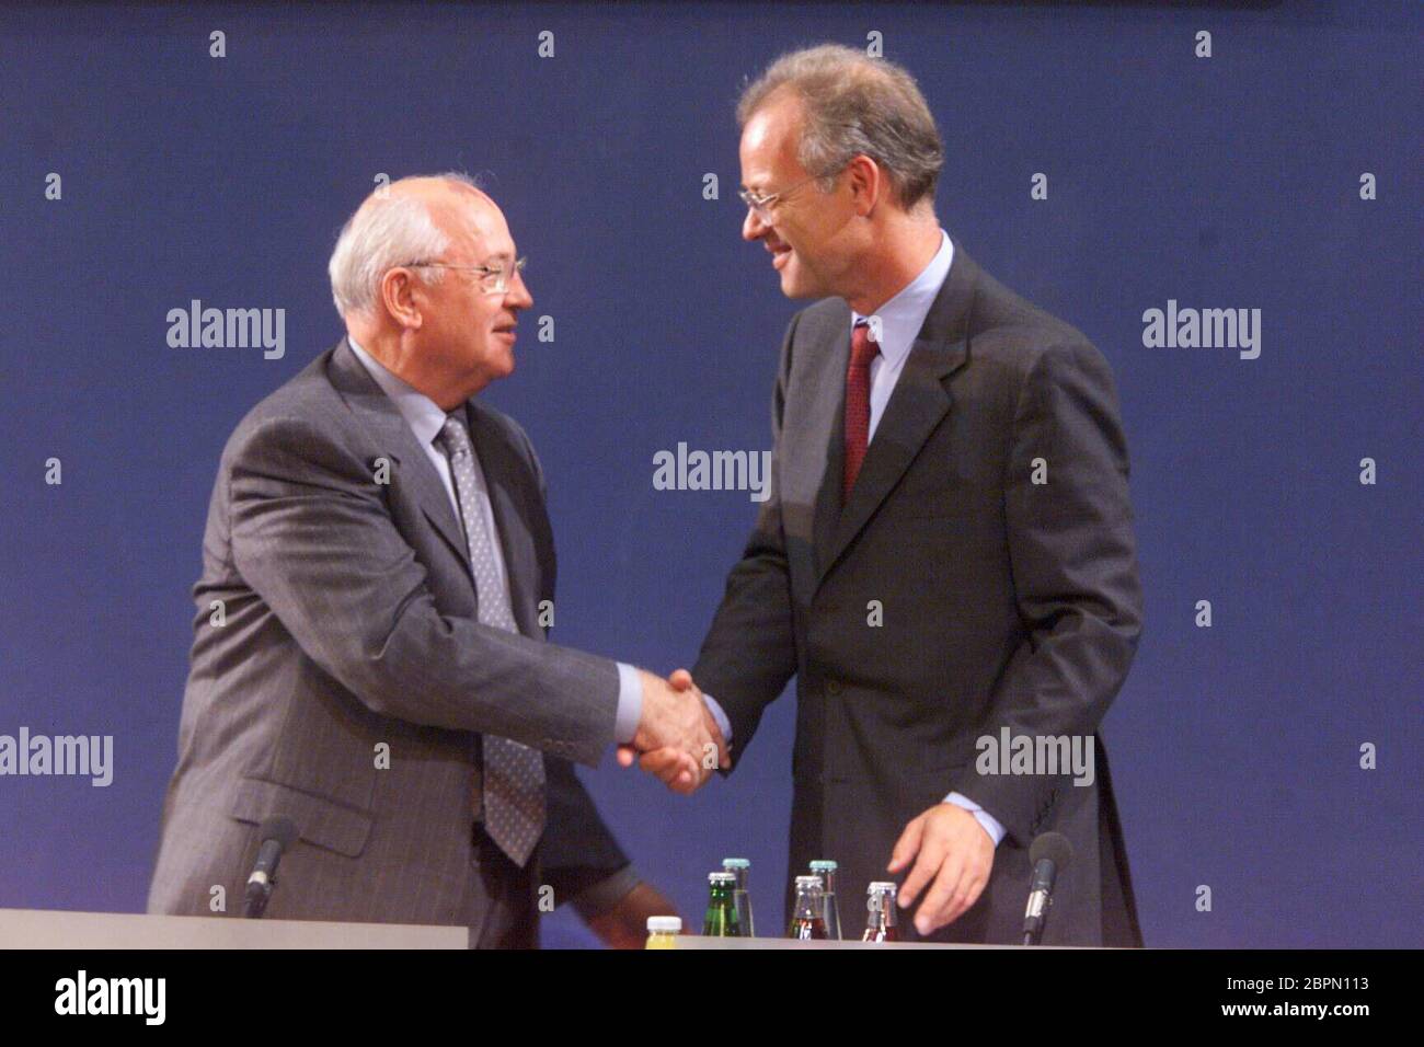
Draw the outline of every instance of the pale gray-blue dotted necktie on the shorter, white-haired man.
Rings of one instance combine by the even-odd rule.
[[[463,412],[463,407],[461,407]],[[510,594],[494,564],[494,536],[486,527],[476,491],[474,449],[464,423],[447,417],[436,437],[450,459],[454,493],[464,517],[480,624],[518,632]],[[544,758],[520,742],[484,735],[484,830],[510,859],[524,866],[544,832]]]

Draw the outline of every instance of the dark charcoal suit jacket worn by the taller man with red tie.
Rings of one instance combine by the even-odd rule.
[[[1136,650],[1128,452],[1108,365],[956,241],[842,506],[849,355],[843,301],[792,319],[770,497],[693,670],[731,718],[733,758],[796,675],[792,872],[840,862],[852,934],[906,823],[958,791],[1008,835],[980,900],[937,939],[1017,942],[1028,846],[1057,829],[1074,859],[1044,942],[1141,943],[1101,736],[1091,788],[975,771],[975,739],[1001,726],[1092,735]],[[1031,483],[1035,459],[1045,486]]]

